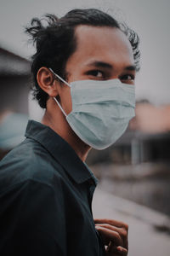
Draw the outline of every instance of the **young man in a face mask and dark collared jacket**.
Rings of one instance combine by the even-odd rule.
[[[93,219],[96,178],[84,163],[134,115],[139,38],[97,9],[75,9],[48,26],[34,19],[34,96],[46,108],[1,162],[1,255],[127,255],[127,224]]]

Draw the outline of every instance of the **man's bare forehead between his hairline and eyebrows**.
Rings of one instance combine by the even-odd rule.
[[[77,26],[77,49],[71,61],[86,64],[88,61],[107,61],[111,65],[133,65],[133,49],[126,35],[115,27]],[[68,60],[69,62],[70,60]]]

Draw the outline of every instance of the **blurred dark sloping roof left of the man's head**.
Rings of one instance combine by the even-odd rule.
[[[27,76],[30,73],[30,61],[0,47],[0,76]]]

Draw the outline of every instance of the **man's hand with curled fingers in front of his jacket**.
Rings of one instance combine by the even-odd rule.
[[[128,225],[121,221],[108,218],[95,218],[95,228],[99,231],[100,236],[106,247],[107,256],[127,256]]]

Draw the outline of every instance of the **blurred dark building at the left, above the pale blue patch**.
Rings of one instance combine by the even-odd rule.
[[[0,48],[0,113],[28,113],[30,62]]]

